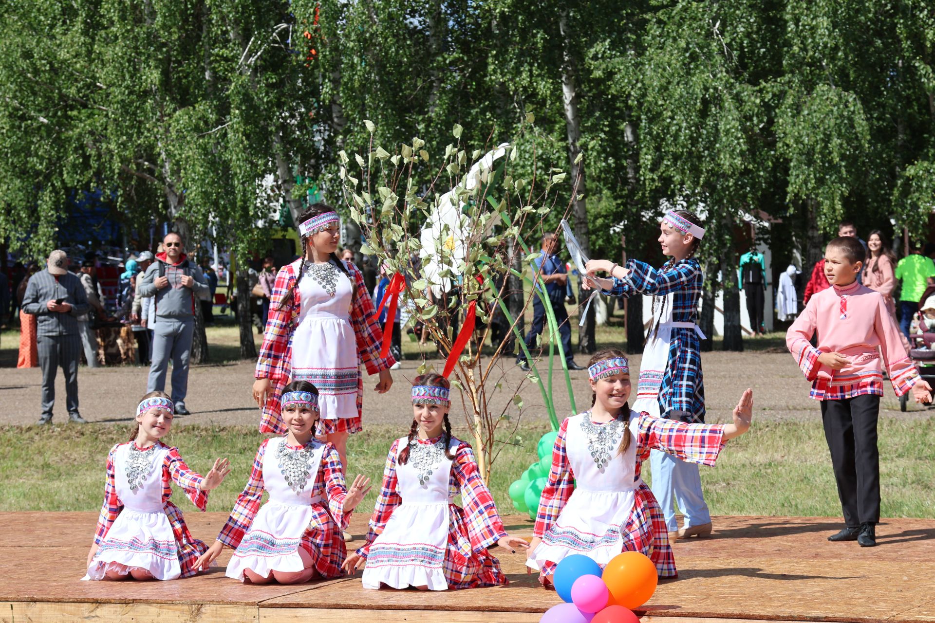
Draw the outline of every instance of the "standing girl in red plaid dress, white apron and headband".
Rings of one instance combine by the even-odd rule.
[[[309,381],[319,393],[316,434],[338,449],[346,467],[348,436],[363,430],[360,362],[368,374],[380,375],[376,390],[385,393],[393,384],[389,369],[396,360],[380,356],[382,332],[364,277],[335,254],[338,213],[319,203],[298,222],[302,257],[276,276],[253,399],[263,409],[260,432],[282,434],[282,388],[291,380]]]

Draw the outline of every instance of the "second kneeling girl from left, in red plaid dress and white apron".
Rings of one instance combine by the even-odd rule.
[[[195,562],[207,568],[224,545],[232,547],[226,574],[241,582],[299,584],[341,575],[347,556],[341,531],[370,490],[363,475],[345,488],[335,446],[314,438],[315,386],[293,381],[284,389],[281,413],[288,433],[260,444],[218,540]],[[261,506],[264,491],[269,499]]]

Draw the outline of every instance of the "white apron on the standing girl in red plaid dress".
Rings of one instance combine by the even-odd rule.
[[[308,263],[308,262],[306,262]],[[351,325],[351,279],[337,271],[335,295],[307,272],[298,282],[299,318],[292,336],[292,380],[318,388],[322,419],[357,414],[357,338]]]

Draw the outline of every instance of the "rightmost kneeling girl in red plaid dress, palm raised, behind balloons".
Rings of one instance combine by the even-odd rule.
[[[603,566],[637,551],[653,560],[659,577],[676,577],[666,524],[640,466],[653,449],[713,465],[726,440],[750,428],[753,390],[743,392],[732,424],[686,424],[630,410],[629,363],[620,350],[598,352],[588,374],[592,406],[559,428],[526,566],[548,587],[567,556],[583,554]]]

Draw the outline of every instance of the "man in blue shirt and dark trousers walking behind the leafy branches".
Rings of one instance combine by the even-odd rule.
[[[583,367],[575,363],[571,352],[571,326],[568,320],[568,310],[565,309],[565,303],[573,300],[571,293],[571,284],[568,283],[568,271],[565,269],[565,262],[559,259],[556,251],[558,250],[558,235],[545,234],[542,236],[542,254],[532,261],[533,279],[541,269],[540,276],[545,282],[545,291],[552,303],[552,309],[555,314],[555,323],[558,325],[558,334],[562,339],[562,347],[565,349],[565,360],[568,361],[568,370],[583,370]],[[539,290],[536,290],[536,297],[532,303],[532,327],[525,336],[525,345],[532,354],[533,347],[536,344],[536,336],[542,333],[545,327],[545,306],[539,300]],[[529,370],[529,362],[525,361],[525,353],[522,351],[517,355],[516,362],[525,371]]]

